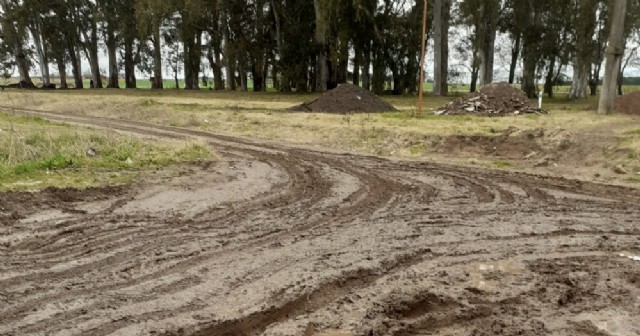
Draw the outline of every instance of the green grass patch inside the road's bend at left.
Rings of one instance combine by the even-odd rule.
[[[125,183],[143,171],[211,158],[204,143],[151,142],[0,113],[0,189]]]

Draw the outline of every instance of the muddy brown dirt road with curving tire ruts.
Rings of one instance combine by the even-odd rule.
[[[209,133],[134,190],[0,194],[0,335],[638,335],[640,192]]]

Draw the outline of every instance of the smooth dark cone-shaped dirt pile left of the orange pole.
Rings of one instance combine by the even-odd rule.
[[[294,112],[390,112],[397,111],[393,105],[383,101],[368,90],[352,84],[340,84],[324,95],[301,105],[291,107]]]

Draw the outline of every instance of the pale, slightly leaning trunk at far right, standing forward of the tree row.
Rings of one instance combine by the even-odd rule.
[[[607,61],[604,69],[602,93],[598,104],[598,114],[612,113],[615,107],[616,88],[620,63],[624,54],[624,19],[627,13],[627,0],[614,0],[607,47]]]

